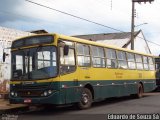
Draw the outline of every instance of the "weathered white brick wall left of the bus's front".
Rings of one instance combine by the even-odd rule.
[[[33,33],[20,30],[0,27],[0,92],[6,91],[6,83],[11,77],[11,55],[10,49],[12,41],[22,36],[32,35]],[[8,54],[5,63],[3,63],[3,50]],[[8,86],[8,85],[7,85]],[[8,88],[8,87],[7,87]]]

